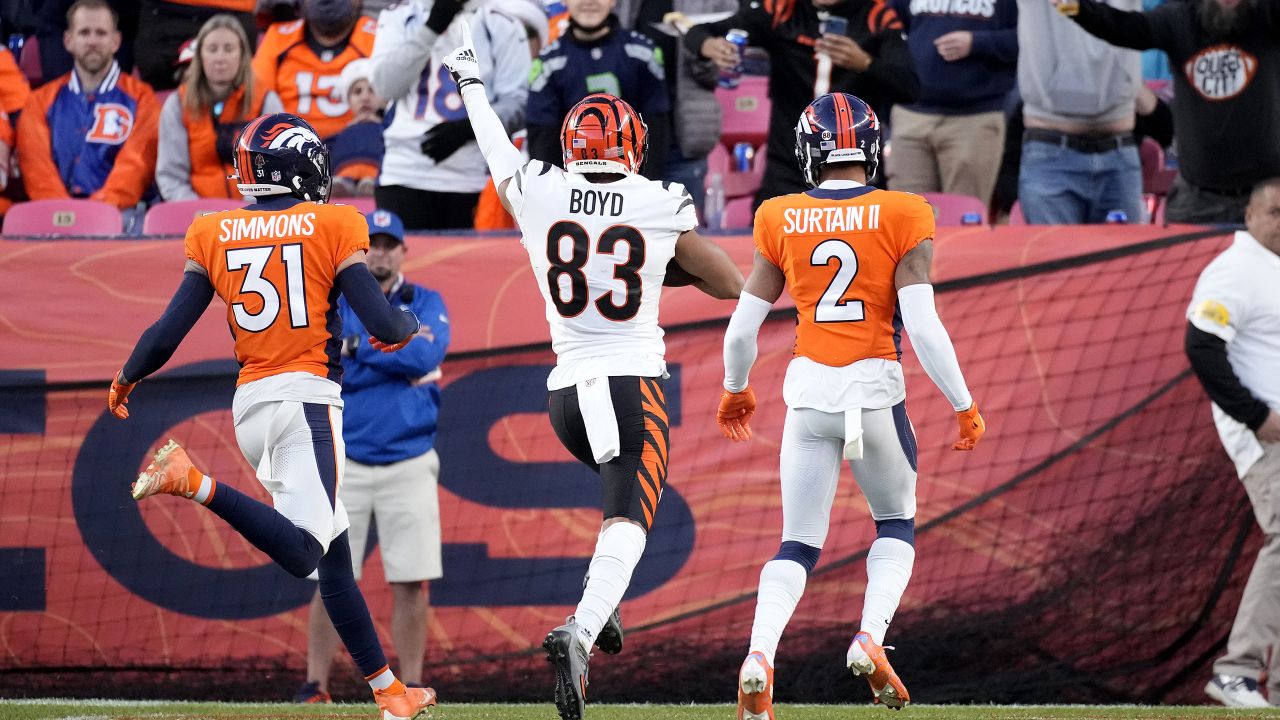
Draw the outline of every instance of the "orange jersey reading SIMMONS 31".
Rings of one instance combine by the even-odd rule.
[[[298,202],[211,213],[191,224],[186,250],[227,302],[237,384],[293,372],[342,377],[334,278],[343,260],[369,250],[358,210]]]

